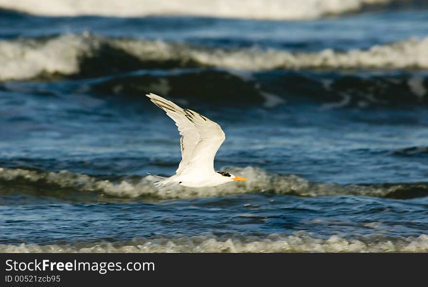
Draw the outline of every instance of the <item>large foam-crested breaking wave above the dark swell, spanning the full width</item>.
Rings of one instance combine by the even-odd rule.
[[[220,49],[130,38],[62,35],[0,41],[0,80],[57,75],[81,77],[169,68],[217,67],[233,70],[426,69],[428,37],[411,38],[368,50],[288,52],[256,47]],[[411,83],[422,93],[420,82]]]

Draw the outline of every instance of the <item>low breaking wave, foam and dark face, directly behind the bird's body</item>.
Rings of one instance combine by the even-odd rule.
[[[270,193],[301,197],[355,195],[402,199],[426,197],[428,195],[427,183],[339,185],[310,182],[295,175],[279,175],[255,167],[231,167],[228,168],[228,171],[244,176],[249,180],[206,188],[184,186],[157,188],[153,184],[156,178],[150,175],[107,180],[68,171],[0,168],[0,186],[5,187],[3,193],[5,193],[4,190],[7,190],[9,193],[30,193],[36,196],[51,196],[67,200],[88,200],[86,197],[73,197],[75,193],[98,193],[99,197],[90,200],[106,202],[114,201],[115,198],[169,200],[247,193]],[[34,190],[34,186],[36,186],[36,190]]]

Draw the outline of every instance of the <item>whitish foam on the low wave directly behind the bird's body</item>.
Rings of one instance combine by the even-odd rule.
[[[385,197],[406,188],[401,184],[363,186],[314,183],[295,175],[278,175],[250,166],[246,168],[232,167],[226,169],[233,174],[244,176],[249,180],[206,188],[188,188],[184,186],[157,188],[153,184],[156,180],[153,176],[146,176],[139,180],[123,179],[112,182],[68,171],[39,172],[8,168],[0,168],[0,180],[12,181],[25,179],[30,183],[43,181],[49,185],[55,185],[60,188],[71,188],[79,192],[102,192],[112,197],[148,197],[161,200],[218,197],[246,193],[273,193],[306,197],[336,195]],[[22,188],[20,190],[22,191]]]

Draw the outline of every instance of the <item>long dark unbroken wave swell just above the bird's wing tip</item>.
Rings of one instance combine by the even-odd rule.
[[[194,83],[192,86],[182,84],[191,82]],[[418,83],[418,89],[414,87],[414,82]],[[144,91],[150,91],[186,99],[192,105],[208,103],[274,108],[285,103],[292,105],[299,100],[310,100],[320,104],[321,109],[331,109],[403,107],[428,103],[428,76],[408,75],[405,72],[361,76],[287,71],[242,74],[218,69],[191,69],[163,74],[125,74],[97,80],[87,86],[91,92],[103,97],[125,96],[139,100]],[[242,95],[246,97],[245,102],[239,101]]]

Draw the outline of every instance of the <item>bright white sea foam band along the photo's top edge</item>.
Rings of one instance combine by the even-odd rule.
[[[0,7],[43,16],[189,15],[298,20],[358,12],[367,5],[411,0],[0,0]]]

